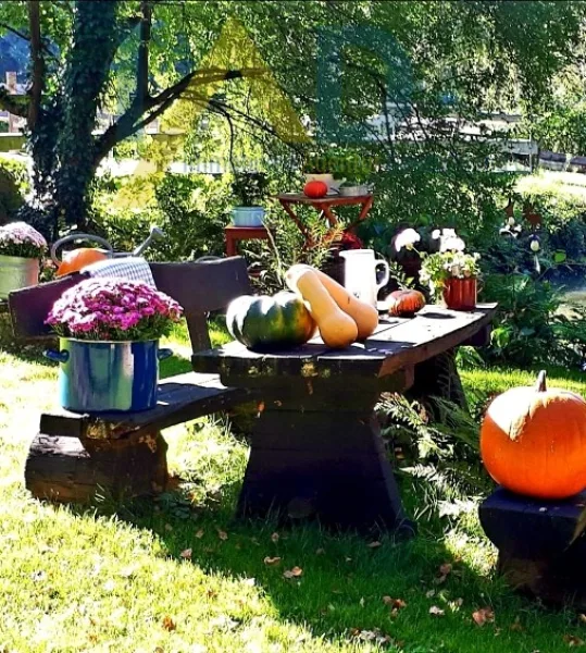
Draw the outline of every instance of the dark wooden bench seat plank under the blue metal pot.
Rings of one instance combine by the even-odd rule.
[[[59,409],[41,415],[39,430],[45,435],[116,440],[225,410],[246,398],[246,391],[226,387],[217,374],[188,372],[159,384],[158,403],[152,410],[91,416]]]

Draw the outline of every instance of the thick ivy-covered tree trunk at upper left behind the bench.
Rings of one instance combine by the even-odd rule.
[[[100,96],[119,41],[116,2],[76,4],[73,46],[62,87],[32,130],[36,222],[54,238],[60,224],[87,229]]]

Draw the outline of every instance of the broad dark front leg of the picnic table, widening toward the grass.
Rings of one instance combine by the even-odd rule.
[[[412,535],[374,417],[374,383],[361,392],[350,380],[340,394],[326,381],[296,381],[261,393],[237,515]]]

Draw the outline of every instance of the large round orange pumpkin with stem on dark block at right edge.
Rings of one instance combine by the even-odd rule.
[[[565,498],[586,488],[586,402],[566,390],[513,387],[488,407],[481,453],[495,481],[537,498]]]

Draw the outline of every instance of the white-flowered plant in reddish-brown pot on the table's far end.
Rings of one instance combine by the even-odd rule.
[[[422,254],[420,281],[432,295],[442,295],[447,308],[474,310],[476,307],[479,254],[466,254],[465,243],[453,230],[434,232],[439,238],[439,251]]]

